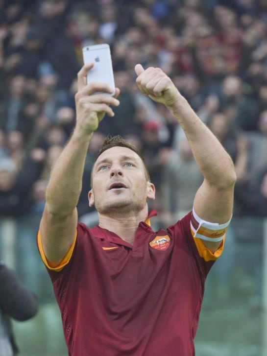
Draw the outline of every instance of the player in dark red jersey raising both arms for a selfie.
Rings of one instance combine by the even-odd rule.
[[[159,68],[135,67],[144,95],[184,129],[204,181],[189,213],[167,231],[150,228],[155,187],[134,146],[108,138],[92,169],[89,204],[99,226],[77,223],[76,204],[90,139],[109,106],[104,83],[78,73],[76,126],[52,169],[38,246],[61,309],[69,355],[194,355],[206,275],[223,249],[236,179],[232,161]],[[126,118],[125,118],[126,119]]]

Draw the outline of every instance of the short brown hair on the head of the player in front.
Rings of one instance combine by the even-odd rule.
[[[138,156],[141,158],[143,164],[144,164],[144,167],[145,167],[145,175],[146,175],[146,179],[150,182],[150,176],[149,176],[149,172],[148,172],[148,168],[146,166],[146,163],[145,163],[145,160],[144,160],[144,157],[142,156],[140,150],[134,145],[132,144],[131,142],[128,142],[126,140],[124,140],[120,135],[116,135],[116,136],[111,136],[111,135],[108,135],[106,138],[105,138],[105,141],[103,142],[102,146],[100,147],[99,149],[99,152],[97,154],[97,157],[95,159],[95,162],[94,162],[94,165],[92,167],[92,170],[91,170],[91,188],[92,188],[92,184],[93,184],[93,169],[94,169],[94,166],[95,166],[95,163],[97,161],[97,158],[104,152],[106,151],[107,149],[109,148],[112,148],[112,147],[126,147],[126,148],[129,148],[131,149],[132,151],[134,151],[136,154],[138,154]]]

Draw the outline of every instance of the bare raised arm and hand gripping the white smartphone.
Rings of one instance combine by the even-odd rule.
[[[94,63],[78,72],[78,92],[75,95],[76,124],[73,135],[52,168],[46,192],[46,205],[40,223],[44,253],[52,267],[66,255],[75,238],[76,205],[82,188],[82,174],[90,139],[99,122],[107,114],[114,116],[109,105],[118,106],[120,90],[115,97],[95,92],[112,93],[105,83],[86,84],[86,76]]]

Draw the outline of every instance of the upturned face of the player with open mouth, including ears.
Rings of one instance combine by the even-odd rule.
[[[137,153],[126,147],[104,151],[93,168],[89,205],[98,213],[138,212],[146,200],[155,198],[155,187],[148,182],[145,167]]]

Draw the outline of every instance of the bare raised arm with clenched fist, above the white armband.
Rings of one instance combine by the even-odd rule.
[[[163,103],[183,128],[204,181],[194,198],[194,210],[203,220],[223,224],[233,210],[236,174],[233,162],[218,139],[197,117],[171,79],[160,69],[135,66],[137,85],[155,102]],[[212,252],[220,242],[203,241]]]

